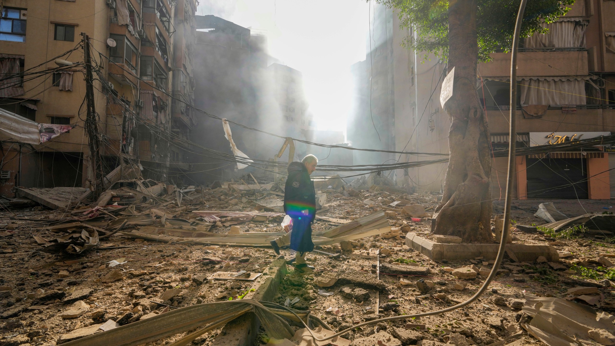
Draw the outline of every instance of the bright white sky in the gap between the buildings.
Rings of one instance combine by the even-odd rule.
[[[269,55],[303,73],[317,128],[346,133],[350,66],[365,60],[367,1],[200,0],[197,15],[208,14],[266,30]]]

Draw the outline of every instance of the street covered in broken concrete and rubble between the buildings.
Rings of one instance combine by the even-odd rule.
[[[124,207],[6,209],[0,223],[4,263],[0,345],[62,344],[177,307],[242,299],[257,288],[255,278],[267,275],[266,268],[274,260],[295,255],[287,249],[279,256],[271,247],[207,244],[206,239],[281,231],[282,214],[261,202],[274,199],[278,189],[269,185],[237,193],[233,185],[188,187],[184,189],[188,192],[175,190],[157,200]],[[311,310],[335,331],[457,304],[472,296],[490,272],[493,260],[434,261],[406,245],[407,233],[429,234],[429,210],[437,205],[438,195],[408,194],[376,185],[368,190],[346,186],[317,192],[327,195],[327,203],[317,212],[315,233],[378,210],[384,210],[391,226],[378,235],[317,247],[322,252],[307,257],[316,268],[311,274],[301,275],[287,266],[274,302]],[[554,202],[568,214],[609,207],[605,201]],[[519,225],[545,223],[533,215],[535,204],[515,202],[513,219]],[[499,206],[494,203],[494,211]],[[408,214],[417,207],[427,212],[420,212],[419,218]],[[202,211],[222,216],[212,221],[202,217]],[[240,215],[224,216],[224,212]],[[124,228],[115,233],[121,225]],[[156,241],[131,235],[142,234],[143,228],[183,230],[183,238]],[[343,337],[354,340],[353,345],[541,344],[521,326],[528,323],[528,313],[522,310],[526,294],[581,302],[598,313],[615,311],[608,280],[613,278],[609,267],[615,257],[610,232],[552,235],[513,230],[513,243],[550,244],[561,260],[547,262],[542,257],[521,262],[507,256],[488,292],[469,307],[364,326]],[[186,239],[190,236],[198,239]],[[218,328],[205,333],[192,344],[215,345],[220,332]],[[169,344],[178,337],[181,334],[151,344]],[[259,337],[261,344],[270,341],[262,329]]]

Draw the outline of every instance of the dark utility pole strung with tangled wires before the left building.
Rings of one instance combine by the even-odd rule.
[[[93,191],[94,198],[98,198],[103,188],[103,163],[100,156],[100,132],[98,131],[98,117],[94,107],[94,78],[92,74],[92,59],[90,57],[90,37],[85,33],[83,36],[83,55],[85,63],[85,103],[87,114],[85,116],[85,134],[87,134],[88,147],[90,149],[90,165],[94,172]]]

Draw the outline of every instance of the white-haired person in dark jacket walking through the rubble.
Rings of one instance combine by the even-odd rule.
[[[318,159],[307,155],[299,161],[288,165],[288,177],[284,189],[284,212],[293,219],[292,230],[287,230],[283,236],[271,241],[276,254],[280,247],[290,245],[295,250],[295,270],[308,273],[314,267],[306,263],[306,253],[314,250],[312,243],[312,222],[316,217],[316,193],[314,183],[309,175],[316,169]]]

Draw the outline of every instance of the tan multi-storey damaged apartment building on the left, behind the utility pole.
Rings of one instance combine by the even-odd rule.
[[[0,73],[23,74],[0,81],[0,111],[70,131],[38,144],[2,139],[0,194],[13,197],[16,186],[89,187],[94,179],[84,131],[80,33],[90,42],[103,174],[123,161],[140,164],[143,177],[181,185],[192,159],[185,140],[197,123],[186,105],[194,103],[196,1],[47,0],[34,5],[2,3]],[[54,57],[69,66],[54,73],[60,65]]]

